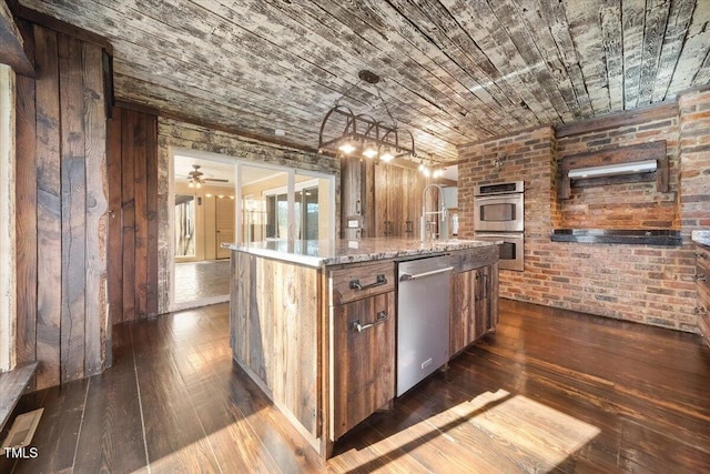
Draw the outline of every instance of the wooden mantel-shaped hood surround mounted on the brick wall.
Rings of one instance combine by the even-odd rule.
[[[628,174],[597,178],[569,178],[569,172],[574,170],[613,167],[647,162],[649,160],[656,160],[656,171],[629,172]],[[669,191],[666,140],[565,157],[561,160],[560,172],[561,177],[557,190],[559,199],[569,199],[572,185],[591,186],[656,180],[656,188],[659,192]]]

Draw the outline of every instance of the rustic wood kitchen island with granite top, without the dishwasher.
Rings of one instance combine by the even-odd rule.
[[[396,265],[445,255],[449,356],[495,329],[495,242],[260,242],[232,250],[234,361],[321,454],[379,409],[396,382]],[[416,387],[414,389],[416,390]]]

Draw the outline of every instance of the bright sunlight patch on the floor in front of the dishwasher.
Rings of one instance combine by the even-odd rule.
[[[486,392],[395,433],[385,445],[416,452],[424,443],[446,442],[442,451],[466,450],[470,466],[495,472],[546,472],[594,440],[600,430],[524,395]],[[396,456],[395,453],[390,453]],[[416,457],[416,454],[414,454]]]

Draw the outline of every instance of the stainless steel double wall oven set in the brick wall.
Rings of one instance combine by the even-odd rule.
[[[525,270],[525,182],[480,184],[474,189],[476,239],[503,241],[500,269]]]

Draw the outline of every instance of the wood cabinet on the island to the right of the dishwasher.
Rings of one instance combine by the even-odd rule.
[[[449,354],[453,356],[498,323],[498,259],[493,251],[457,262],[449,294]]]

